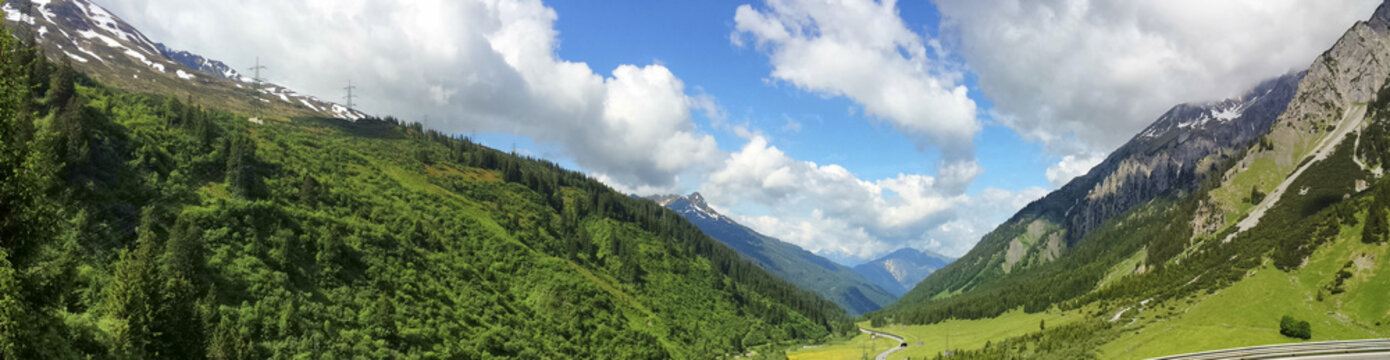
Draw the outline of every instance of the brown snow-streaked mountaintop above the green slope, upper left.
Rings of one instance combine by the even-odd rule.
[[[359,120],[367,114],[238,74],[221,61],[168,49],[90,0],[6,1],[6,25],[103,83],[192,97],[246,113]],[[346,82],[346,81],[345,81]]]

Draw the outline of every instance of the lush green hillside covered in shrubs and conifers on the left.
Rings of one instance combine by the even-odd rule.
[[[853,329],[553,164],[126,93],[0,39],[0,357],[709,359]]]

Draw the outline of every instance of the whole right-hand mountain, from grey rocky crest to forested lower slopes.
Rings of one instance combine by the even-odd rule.
[[[1375,257],[1384,243],[1384,229],[1375,227],[1383,227],[1376,224],[1390,197],[1376,165],[1390,149],[1386,58],[1390,1],[1305,71],[1240,97],[1175,106],[1087,175],[1030,203],[965,257],[869,317],[933,324],[1020,307],[1090,309],[1109,311],[1112,322],[1150,302],[1180,316],[1182,307],[1261,271],[1297,274],[1309,259],[1346,261],[1346,270]],[[1329,243],[1354,247],[1346,242],[1358,235],[1372,250],[1350,259],[1320,253]],[[1325,265],[1316,271],[1326,272],[1304,278],[1343,277]],[[1326,314],[1352,311],[1340,299],[1365,293],[1340,286],[1287,296],[1332,309]],[[1322,304],[1341,293],[1351,296]],[[1252,302],[1289,300],[1280,296]],[[1339,320],[1380,327],[1390,313],[1372,307],[1379,310],[1361,314],[1373,316]],[[1108,321],[1095,322],[1087,332],[1112,334]]]

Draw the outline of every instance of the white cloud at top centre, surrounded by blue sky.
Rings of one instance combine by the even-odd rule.
[[[917,147],[940,150],[948,190],[963,192],[980,174],[976,103],[937,47],[908,29],[895,0],[769,0],[739,6],[734,24],[733,43],[766,51],[773,79],[848,97]]]

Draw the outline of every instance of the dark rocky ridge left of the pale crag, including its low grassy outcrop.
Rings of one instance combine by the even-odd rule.
[[[1161,196],[1180,196],[1269,132],[1304,72],[1266,81],[1220,101],[1179,104],[1086,175],[1030,203],[974,249],[922,285],[970,286],[1065,256],[1105,221]],[[920,286],[920,285],[919,285]]]

